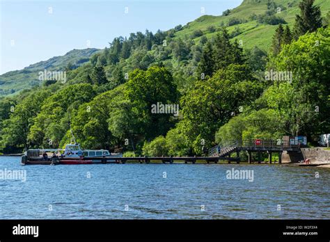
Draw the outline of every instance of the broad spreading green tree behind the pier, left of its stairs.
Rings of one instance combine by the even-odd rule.
[[[229,65],[219,70],[212,78],[197,81],[181,106],[187,131],[193,140],[194,151],[201,152],[201,139],[205,147],[211,147],[217,129],[239,113],[239,107],[251,104],[262,91],[261,84],[254,81],[246,65]]]

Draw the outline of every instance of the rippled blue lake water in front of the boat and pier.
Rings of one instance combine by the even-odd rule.
[[[0,179],[1,219],[330,218],[329,168],[19,161],[0,157],[0,171],[26,170],[25,182]],[[232,168],[253,170],[253,181],[227,179]]]

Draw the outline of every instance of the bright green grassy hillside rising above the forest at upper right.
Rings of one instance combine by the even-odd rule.
[[[243,3],[230,11],[227,16],[212,16],[203,15],[194,22],[186,24],[181,31],[175,33],[175,38],[187,38],[193,35],[194,31],[200,29],[203,31],[207,38],[211,38],[216,35],[220,29],[221,24],[228,26],[230,19],[244,19],[246,22],[242,24],[235,24],[228,26],[229,33],[233,33],[235,29],[239,29],[241,32],[233,39],[242,40],[243,47],[245,49],[251,49],[255,45],[265,51],[268,50],[272,43],[272,36],[277,28],[277,25],[260,24],[256,20],[251,20],[252,14],[262,15],[267,11],[267,2],[269,0],[244,0]],[[290,27],[294,25],[294,19],[299,14],[299,2],[300,0],[274,0],[274,3],[278,6],[283,6],[281,13],[276,13],[277,17],[282,17]],[[322,15],[326,15],[330,10],[329,0],[315,0],[315,5],[320,6]],[[208,29],[210,26],[214,26],[216,31],[210,33]],[[194,38],[198,41],[201,37]]]

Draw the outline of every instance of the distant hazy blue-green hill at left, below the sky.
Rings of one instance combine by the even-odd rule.
[[[38,80],[38,72],[64,70],[70,63],[72,68],[77,68],[89,61],[89,58],[99,49],[73,49],[64,56],[55,56],[47,61],[40,61],[36,64],[29,65],[23,70],[6,72],[0,76],[0,96],[13,95],[33,86],[40,85]]]

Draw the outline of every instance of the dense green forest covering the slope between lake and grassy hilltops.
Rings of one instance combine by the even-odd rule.
[[[277,8],[269,1],[251,14],[276,25],[267,51],[233,39],[228,27],[242,22],[234,18],[215,35],[195,30],[197,41],[176,35],[184,26],[115,38],[66,67],[67,81],[0,99],[0,150],[63,147],[70,129],[84,148],[126,155],[202,155],[217,143],[283,135],[313,145],[330,133],[330,15],[302,0],[290,26]],[[156,104],[178,106],[178,115],[152,112]]]

